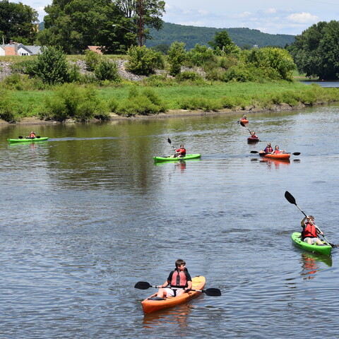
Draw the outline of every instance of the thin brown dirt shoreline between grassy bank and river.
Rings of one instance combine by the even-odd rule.
[[[110,119],[107,121],[117,121],[117,120],[138,120],[138,119],[167,119],[167,118],[175,118],[175,117],[213,117],[217,115],[231,115],[231,114],[238,114],[239,118],[242,116],[242,114],[247,114],[247,112],[250,110],[252,113],[258,113],[258,112],[285,112],[292,109],[303,109],[306,107],[306,105],[300,104],[298,106],[291,107],[290,105],[283,104],[283,105],[275,105],[273,107],[270,107],[269,109],[246,109],[246,110],[232,110],[232,109],[221,109],[217,112],[213,111],[203,111],[201,110],[186,110],[186,109],[177,109],[177,110],[169,110],[165,113],[160,114],[153,114],[153,115],[137,115],[135,117],[121,117],[117,114],[111,114]],[[88,122],[99,122],[100,120],[93,119]],[[10,123],[8,121],[4,121],[0,119],[0,125],[44,125],[44,124],[76,124],[77,121],[73,119],[67,119],[66,121],[60,122],[60,121],[54,121],[54,120],[40,120],[37,117],[26,117],[23,119],[20,119],[20,121],[17,121],[15,123]]]

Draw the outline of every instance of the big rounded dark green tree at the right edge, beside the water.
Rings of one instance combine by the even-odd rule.
[[[299,73],[321,79],[339,78],[339,21],[321,21],[295,37],[287,47]]]

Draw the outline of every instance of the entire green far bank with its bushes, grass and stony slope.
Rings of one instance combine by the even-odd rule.
[[[218,38],[225,36],[216,33],[213,49],[197,44],[189,52],[174,42],[166,56],[146,47],[131,47],[124,56],[66,56],[49,47],[37,57],[2,57],[11,74],[1,81],[0,118],[109,120],[169,109],[218,112],[339,101],[337,88],[294,81],[295,64],[285,49],[243,51],[225,40],[218,44]]]

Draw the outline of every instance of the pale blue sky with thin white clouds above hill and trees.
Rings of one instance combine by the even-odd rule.
[[[233,0],[234,1],[234,0]],[[251,28],[300,35],[319,21],[339,20],[338,0],[165,0],[167,23],[212,28]],[[15,1],[19,2],[19,1]],[[52,0],[21,0],[44,20]]]

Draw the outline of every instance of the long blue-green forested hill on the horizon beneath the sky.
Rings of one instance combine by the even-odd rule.
[[[221,32],[222,30],[226,30],[234,44],[239,47],[244,47],[245,45],[253,47],[254,44],[257,44],[258,47],[285,47],[285,44],[295,42],[295,35],[268,34],[260,30],[250,30],[249,28],[210,28],[164,23],[162,30],[150,30],[153,40],[147,40],[146,46],[153,47],[158,44],[170,46],[174,41],[184,42],[186,49],[194,48],[196,44],[209,46],[208,42],[213,40],[215,32]]]

